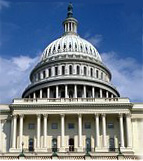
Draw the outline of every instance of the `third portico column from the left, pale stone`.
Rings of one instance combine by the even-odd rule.
[[[40,149],[40,137],[41,136],[41,115],[37,115],[37,149]]]

